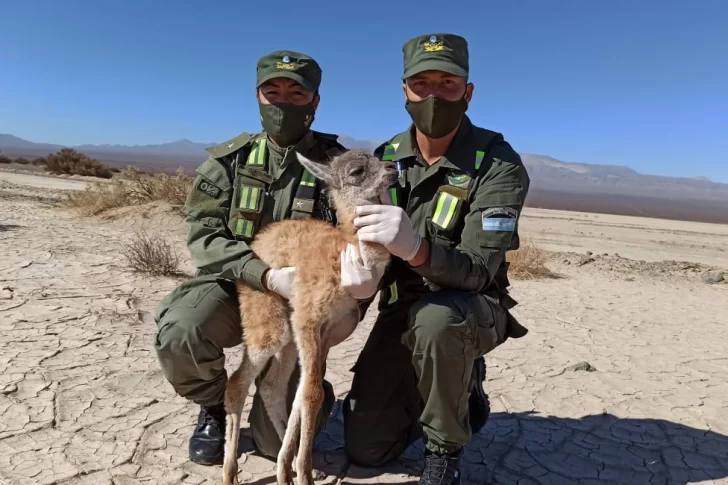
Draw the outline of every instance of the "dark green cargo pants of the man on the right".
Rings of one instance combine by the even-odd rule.
[[[465,445],[473,361],[505,341],[507,324],[495,300],[458,291],[381,308],[344,400],[349,459],[380,466],[419,437],[435,452]]]

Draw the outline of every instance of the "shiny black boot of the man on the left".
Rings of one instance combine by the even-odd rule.
[[[190,460],[200,465],[220,465],[225,456],[225,406],[200,407],[197,427],[190,438]]]

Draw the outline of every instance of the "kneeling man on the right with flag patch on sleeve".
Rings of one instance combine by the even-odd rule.
[[[394,258],[345,399],[345,448],[377,466],[422,436],[419,483],[456,484],[461,450],[489,411],[482,356],[527,332],[508,311],[505,253],[519,247],[529,177],[499,133],[464,114],[473,95],[465,39],[428,34],[403,51],[413,125],[375,151],[399,182],[391,204],[359,207],[354,221],[359,240]]]

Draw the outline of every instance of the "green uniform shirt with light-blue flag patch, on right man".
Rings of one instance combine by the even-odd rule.
[[[430,242],[430,255],[417,268],[395,259],[383,278],[380,305],[410,300],[428,286],[505,292],[505,253],[519,247],[518,219],[530,184],[520,156],[500,134],[473,125],[467,116],[431,166],[413,136],[410,130],[400,133],[375,154],[400,167],[390,195]]]

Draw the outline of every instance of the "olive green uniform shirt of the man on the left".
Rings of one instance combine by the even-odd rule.
[[[287,150],[268,146],[266,169],[258,172],[249,172],[248,157],[256,141],[265,139],[264,133],[242,133],[209,148],[210,156],[197,168],[184,205],[187,247],[198,269],[197,275],[216,274],[225,279],[244,280],[263,290],[261,278],[268,266],[253,256],[248,245],[255,233],[273,221],[288,218],[314,217],[335,222],[325,193],[318,184],[313,197],[296,198],[304,169],[295,152],[325,162],[346,150],[337,138],[336,135],[309,131],[297,145]],[[249,184],[246,187],[245,177],[249,173],[257,173],[253,182],[259,187]],[[255,194],[254,198],[251,193]],[[257,205],[257,221],[254,233],[240,235],[240,222],[236,217],[245,204]]]

